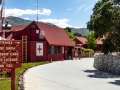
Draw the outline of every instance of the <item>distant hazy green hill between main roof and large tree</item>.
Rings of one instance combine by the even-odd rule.
[[[89,29],[87,28],[71,28],[72,33],[80,33],[82,36],[87,36],[89,34]]]

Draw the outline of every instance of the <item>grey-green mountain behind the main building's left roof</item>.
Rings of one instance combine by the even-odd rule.
[[[25,24],[30,24],[32,21],[30,20],[25,20],[19,17],[14,17],[14,16],[9,16],[7,17],[7,19],[9,20],[9,24],[11,24],[12,26],[14,25],[25,25]]]

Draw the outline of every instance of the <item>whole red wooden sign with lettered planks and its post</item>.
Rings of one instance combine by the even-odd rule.
[[[0,69],[11,69],[11,90],[15,90],[15,68],[22,62],[22,41],[0,40]]]

